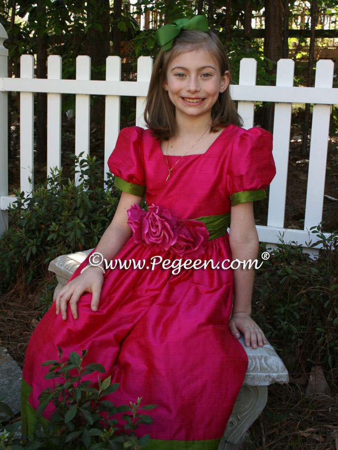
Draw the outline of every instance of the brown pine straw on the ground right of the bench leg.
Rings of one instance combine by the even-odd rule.
[[[331,396],[305,396],[305,387],[271,385],[268,403],[250,428],[255,450],[338,450],[337,386]],[[334,392],[332,392],[334,391]]]

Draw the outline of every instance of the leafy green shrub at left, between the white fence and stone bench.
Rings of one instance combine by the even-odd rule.
[[[9,230],[0,237],[0,294],[15,282],[19,270],[29,284],[41,278],[43,266],[58,255],[94,247],[108,227],[120,192],[111,174],[104,188],[102,164],[95,156],[81,155],[73,156],[78,186],[55,170],[30,196],[16,192]]]

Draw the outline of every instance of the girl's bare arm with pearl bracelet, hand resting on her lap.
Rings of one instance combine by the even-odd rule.
[[[127,223],[127,210],[134,203],[140,205],[141,202],[142,197],[122,192],[114,217],[95,249],[107,261],[112,260],[130,238],[132,231]],[[62,319],[66,320],[67,302],[69,301],[72,315],[74,319],[77,319],[77,302],[84,292],[92,293],[91,307],[93,311],[96,311],[100,301],[102,284],[102,270],[97,267],[89,267],[82,275],[69,281],[57,294],[55,298],[56,313],[59,314],[61,311]]]

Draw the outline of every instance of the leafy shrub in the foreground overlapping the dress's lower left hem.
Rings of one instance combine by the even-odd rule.
[[[42,365],[49,365],[46,379],[62,378],[54,388],[46,388],[39,396],[36,417],[39,418],[49,403],[53,403],[55,411],[50,421],[33,434],[31,438],[23,436],[22,441],[15,438],[14,433],[20,422],[4,429],[0,423],[0,450],[139,450],[149,440],[149,434],[138,437],[135,430],[138,425],[151,424],[150,416],[140,414],[139,410],[150,410],[156,405],[140,406],[141,398],[130,405],[115,406],[105,397],[115,392],[119,384],[111,384],[111,376],[101,380],[98,376],[98,389],[91,386],[91,382],[82,378],[92,372],[106,372],[101,364],[91,363],[82,367],[83,358],[87,350],[81,355],[71,352],[69,359],[62,361],[62,350],[59,347],[59,360],[50,360]],[[0,411],[6,414],[5,420],[13,415],[10,408],[0,402]],[[124,429],[117,426],[117,419],[113,416],[122,415],[125,422]],[[46,422],[46,423],[45,423]]]

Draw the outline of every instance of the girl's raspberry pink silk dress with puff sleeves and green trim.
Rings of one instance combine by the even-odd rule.
[[[80,298],[77,320],[69,305],[65,322],[55,305],[46,312],[23,370],[22,413],[29,431],[36,425],[39,394],[55,381],[44,379],[41,363],[57,358],[60,345],[64,357],[88,349],[84,363],[101,363],[106,376],[120,383],[108,396],[115,405],[138,397],[143,405],[157,405],[150,411],[153,424],[137,430],[150,433],[146,450],[217,449],[247,369],[246,352],[228,328],[232,269],[209,264],[173,273],[152,261],[231,260],[230,207],[265,197],[275,175],[272,136],[258,127],[228,125],[204,154],[171,155],[168,163],[174,168],[166,181],[166,157],[152,133],[137,126],[121,131],[109,168],[116,186],[145,194],[148,210],[131,208],[133,235],[115,258],[145,266],[108,269],[97,312],[89,293]],[[97,384],[97,374],[88,378]],[[46,419],[51,412],[50,405]]]

